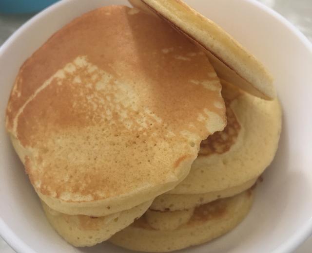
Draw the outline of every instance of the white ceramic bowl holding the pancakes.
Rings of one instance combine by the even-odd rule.
[[[192,252],[291,252],[312,232],[312,46],[284,18],[255,1],[187,2],[270,69],[284,111],[279,149],[257,188],[250,215],[231,233]],[[109,243],[77,249],[54,232],[4,127],[7,99],[24,60],[73,18],[109,4],[127,3],[60,1],[24,24],[0,48],[0,235],[17,252],[126,252]]]

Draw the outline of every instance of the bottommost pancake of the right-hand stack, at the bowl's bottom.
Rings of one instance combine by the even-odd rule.
[[[123,248],[142,252],[171,252],[210,241],[231,231],[247,216],[253,203],[251,190],[201,205],[190,220],[175,230],[155,230],[142,216],[110,238]]]

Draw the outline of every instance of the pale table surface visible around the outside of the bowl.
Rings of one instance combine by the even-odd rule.
[[[291,21],[312,41],[312,0],[259,0]],[[0,45],[32,15],[0,14]],[[0,237],[0,253],[14,251]],[[312,253],[312,236],[294,253]]]

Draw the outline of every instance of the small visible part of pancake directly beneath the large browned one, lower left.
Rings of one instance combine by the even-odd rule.
[[[67,242],[76,247],[93,246],[107,240],[142,216],[151,203],[152,200],[116,214],[90,217],[61,214],[41,201],[44,213],[52,227]]]

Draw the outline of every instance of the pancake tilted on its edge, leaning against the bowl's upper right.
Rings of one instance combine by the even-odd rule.
[[[129,0],[154,12],[206,52],[218,76],[264,99],[274,99],[273,77],[265,67],[212,20],[181,0]]]

